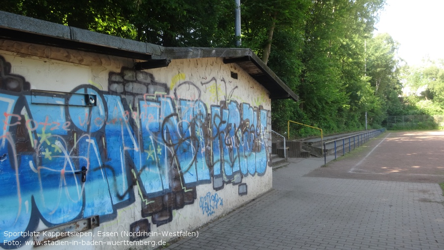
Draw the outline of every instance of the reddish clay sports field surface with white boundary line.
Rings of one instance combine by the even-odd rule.
[[[388,131],[306,176],[444,182],[444,131]]]

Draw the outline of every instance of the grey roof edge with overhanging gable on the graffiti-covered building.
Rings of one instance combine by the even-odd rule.
[[[298,101],[298,96],[250,49],[162,47],[4,11],[0,11],[0,39],[143,60],[136,64],[138,69],[166,67],[173,59],[222,57],[224,63],[239,65],[263,85],[271,100]]]

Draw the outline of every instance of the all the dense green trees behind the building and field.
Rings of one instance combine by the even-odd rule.
[[[287,120],[326,133],[380,127],[387,115],[442,112],[443,62],[400,68],[399,44],[373,35],[385,0],[242,0],[242,47],[254,50],[300,97],[272,102]],[[1,10],[170,47],[234,47],[234,0],[5,0]],[[400,75],[426,86],[400,98]],[[406,82],[407,80],[404,80]],[[293,125],[292,125],[293,126]],[[294,125],[299,136],[317,133]],[[325,133],[324,132],[324,133]]]

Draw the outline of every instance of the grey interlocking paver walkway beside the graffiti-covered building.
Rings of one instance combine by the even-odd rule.
[[[444,249],[438,184],[304,177],[323,160],[290,159],[272,191],[168,249]]]

